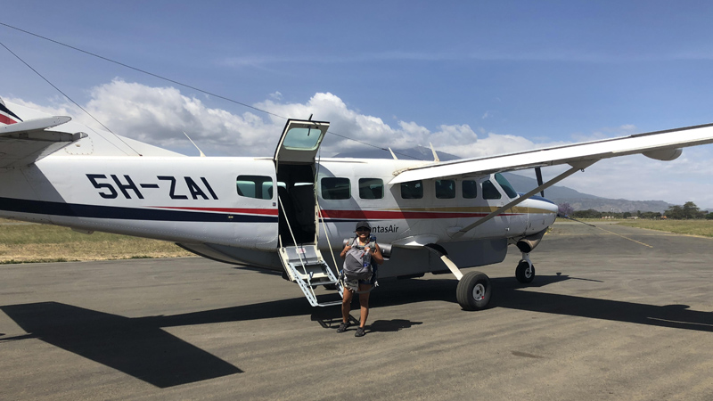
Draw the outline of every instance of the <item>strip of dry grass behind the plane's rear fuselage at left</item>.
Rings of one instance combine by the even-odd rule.
[[[0,264],[192,255],[172,242],[0,219]]]

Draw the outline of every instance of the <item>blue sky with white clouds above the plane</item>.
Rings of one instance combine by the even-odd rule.
[[[702,1],[24,1],[0,22],[340,135],[475,157],[713,122],[711,17]],[[191,153],[187,127],[208,154],[267,155],[283,125],[15,29],[0,42],[120,135]],[[0,54],[0,96],[82,119]],[[712,146],[562,184],[713,207]]]

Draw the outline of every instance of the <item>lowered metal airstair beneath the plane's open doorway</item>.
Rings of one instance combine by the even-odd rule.
[[[306,244],[280,248],[280,259],[283,261],[287,278],[291,282],[297,282],[310,305],[313,307],[341,305],[341,299],[327,302],[320,302],[317,299],[315,289],[320,285],[336,287],[342,297],[343,289],[332,269],[324,262],[316,245]]]

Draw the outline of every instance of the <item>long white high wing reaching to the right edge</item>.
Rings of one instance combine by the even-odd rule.
[[[674,160],[681,148],[713,143],[713,124],[676,128],[601,141],[574,143],[536,151],[434,163],[397,171],[389,184],[454,176],[483,176],[491,173],[570,164],[587,167],[596,160],[642,153],[656,160]]]

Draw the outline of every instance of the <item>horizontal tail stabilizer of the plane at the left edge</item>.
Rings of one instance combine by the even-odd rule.
[[[0,127],[0,168],[28,166],[87,136],[46,130],[68,121],[69,117],[47,117]]]

